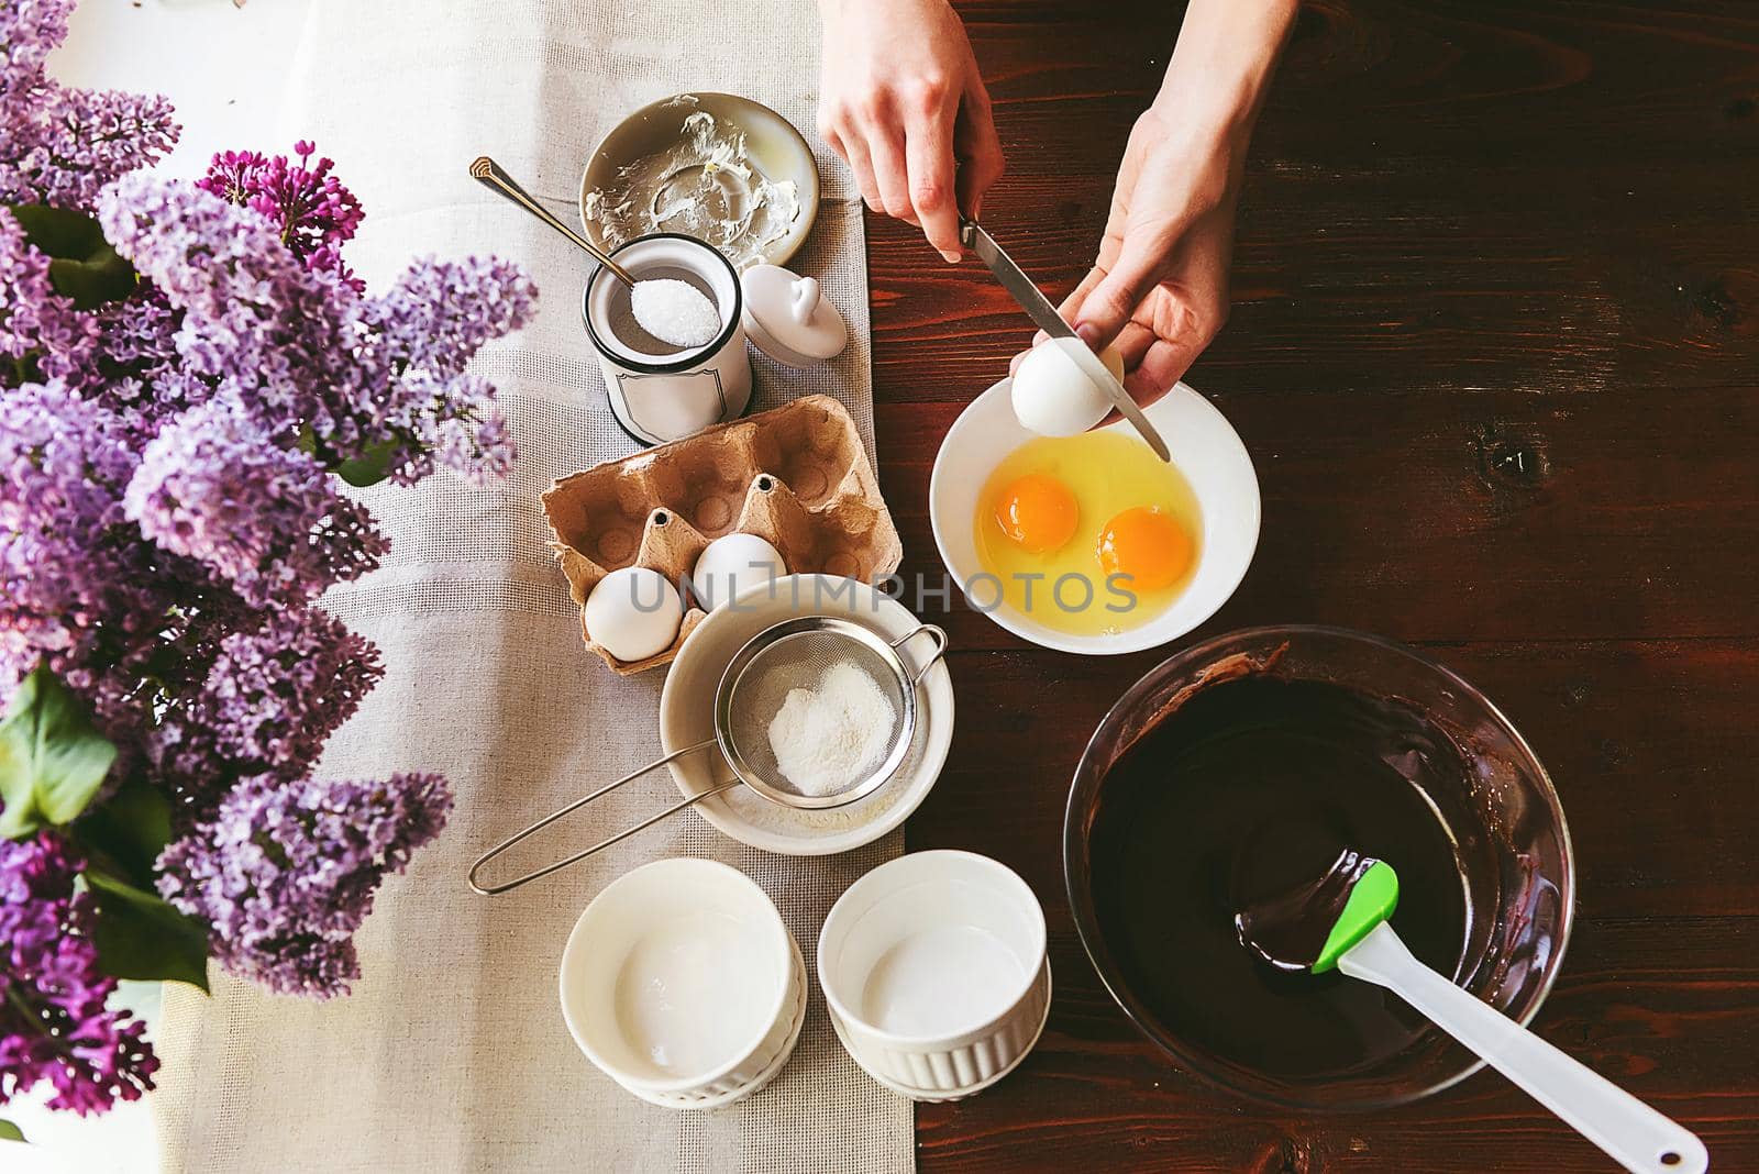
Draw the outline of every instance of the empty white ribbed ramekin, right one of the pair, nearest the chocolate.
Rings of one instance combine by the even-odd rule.
[[[837,898],[818,982],[855,1063],[916,1100],[955,1100],[1011,1072],[1050,1014],[1045,912],[1011,868],[911,852]]]

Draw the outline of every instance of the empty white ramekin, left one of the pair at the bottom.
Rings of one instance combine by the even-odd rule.
[[[737,868],[656,859],[612,880],[561,954],[561,1014],[605,1076],[670,1109],[758,1091],[806,1021],[806,965]]]

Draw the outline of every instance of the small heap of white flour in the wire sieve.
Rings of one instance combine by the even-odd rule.
[[[892,747],[897,710],[860,666],[832,664],[818,689],[790,689],[770,719],[770,750],[800,794],[848,791]]]

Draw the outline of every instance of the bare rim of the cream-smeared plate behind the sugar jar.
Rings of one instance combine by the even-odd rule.
[[[593,151],[580,176],[580,225],[593,244],[607,248],[600,225],[586,214],[589,192],[612,190],[624,167],[665,151],[679,142],[684,120],[704,111],[718,123],[746,135],[746,155],[770,183],[792,179],[799,214],[786,234],[763,246],[758,260],[786,265],[800,251],[813,220],[818,216],[818,163],[813,148],[786,118],[770,107],[735,93],[679,93],[649,102],[612,128]]]

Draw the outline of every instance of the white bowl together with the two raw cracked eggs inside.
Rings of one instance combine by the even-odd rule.
[[[1048,438],[1010,381],[941,441],[929,517],[966,601],[1047,649],[1110,656],[1186,634],[1221,608],[1258,547],[1258,475],[1228,420],[1179,383],[1145,409],[1159,460],[1117,422]]]

